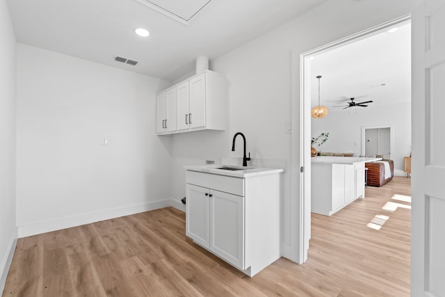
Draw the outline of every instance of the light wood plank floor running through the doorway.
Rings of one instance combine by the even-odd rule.
[[[410,196],[410,179],[313,214],[307,263],[278,259],[254,278],[186,238],[171,207],[26,237],[2,296],[409,296],[410,203],[394,194]],[[380,230],[367,227],[376,215],[389,216]]]

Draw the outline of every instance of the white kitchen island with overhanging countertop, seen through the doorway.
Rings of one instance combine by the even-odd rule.
[[[364,163],[381,159],[313,156],[311,158],[311,211],[331,216],[357,198],[364,198]]]

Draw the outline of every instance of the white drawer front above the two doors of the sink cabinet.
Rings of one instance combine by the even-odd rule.
[[[244,196],[244,179],[187,170],[186,183]]]

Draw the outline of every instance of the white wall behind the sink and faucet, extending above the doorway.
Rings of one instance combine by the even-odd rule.
[[[291,154],[291,139],[298,139],[298,100],[292,102],[291,88],[300,89],[300,77],[291,81],[292,51],[304,53],[353,33],[369,29],[410,12],[416,1],[327,1],[309,13],[247,42],[211,63],[211,70],[223,73],[230,82],[229,129],[225,132],[175,135],[173,137],[173,197],[184,196],[185,177],[181,166],[203,163],[205,157],[241,156],[241,150],[230,152],[232,136],[242,131],[248,141],[248,151],[257,158],[284,159],[282,243],[285,257],[298,249],[300,218],[298,218],[299,177],[291,177],[291,166],[299,160]],[[294,61],[299,69],[299,61]],[[285,134],[286,122],[293,121],[293,134]],[[296,141],[296,143],[298,143]],[[238,149],[241,145],[238,145]],[[295,152],[293,152],[295,151]],[[298,170],[296,170],[298,172]],[[292,193],[291,188],[296,191]],[[296,252],[298,253],[298,251]]]

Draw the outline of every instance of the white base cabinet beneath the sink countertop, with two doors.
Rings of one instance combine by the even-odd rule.
[[[249,276],[280,257],[280,174],[188,170],[186,235]]]

